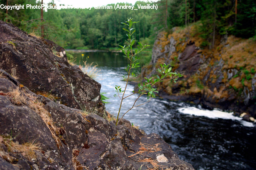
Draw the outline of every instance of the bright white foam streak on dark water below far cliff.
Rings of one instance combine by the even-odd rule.
[[[233,116],[232,115],[233,112],[223,112],[223,111],[219,111],[216,109],[214,109],[212,111],[201,110],[196,107],[189,107],[189,106],[179,108],[178,111],[181,113],[184,113],[184,114],[191,114],[191,115],[195,115],[195,116],[205,116],[205,117],[212,118],[212,119],[221,118],[221,119],[238,120],[238,121],[240,121],[240,123],[243,126],[254,127],[253,123],[244,121],[240,117]]]

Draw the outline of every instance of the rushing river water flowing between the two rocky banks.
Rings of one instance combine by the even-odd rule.
[[[117,116],[120,105],[114,86],[125,87],[121,75],[128,61],[121,53],[83,52],[74,54],[81,63],[81,54],[87,63],[98,64],[100,74],[96,78],[102,84],[101,92],[109,97],[106,110]],[[88,58],[89,56],[89,58]],[[134,86],[127,86],[126,95],[132,94]],[[121,113],[132,105],[136,95],[123,101]],[[137,104],[147,101],[141,97]],[[253,170],[256,169],[255,125],[217,109],[208,111],[200,106],[154,98],[136,107],[125,116],[147,134],[157,133],[181,160],[191,163],[196,170]]]

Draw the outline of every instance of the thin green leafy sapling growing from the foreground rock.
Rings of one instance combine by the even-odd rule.
[[[136,77],[137,75],[135,75],[133,72],[131,72],[131,69],[134,69],[134,68],[137,68],[137,67],[140,67],[139,66],[139,62],[138,60],[140,59],[139,57],[137,57],[136,55],[139,54],[140,52],[142,52],[143,50],[146,49],[147,46],[149,45],[143,45],[141,44],[140,42],[138,42],[138,45],[137,45],[137,49],[135,49],[135,51],[133,51],[133,48],[132,46],[134,45],[135,43],[135,39],[132,38],[132,35],[133,33],[136,31],[134,28],[132,28],[133,24],[137,23],[137,22],[133,22],[132,21],[133,19],[131,18],[127,18],[127,21],[126,23],[121,23],[121,24],[124,24],[126,26],[129,27],[129,29],[126,29],[126,28],[123,28],[123,30],[125,30],[127,33],[126,33],[126,36],[128,37],[128,41],[125,40],[129,45],[128,46],[121,46],[119,45],[120,47],[120,50],[122,50],[123,54],[124,54],[124,57],[128,58],[129,61],[130,61],[130,64],[128,64],[126,67],[125,67],[125,71],[128,73],[127,74],[127,78],[126,78],[126,75],[123,75],[122,77],[125,79],[126,81],[126,85],[125,85],[125,89],[122,90],[121,86],[115,86],[115,92],[117,92],[117,94],[115,94],[114,96],[118,96],[121,100],[120,102],[120,107],[119,107],[119,111],[118,111],[118,114],[117,114],[117,120],[116,120],[116,125],[118,124],[118,122],[123,118],[123,116],[129,112],[131,109],[135,108],[135,107],[138,107],[138,106],[141,106],[141,105],[144,105],[146,103],[148,103],[151,98],[153,97],[156,97],[155,93],[158,93],[158,91],[156,91],[156,88],[153,88],[153,86],[158,83],[158,82],[162,82],[162,81],[168,81],[168,80],[171,80],[173,79],[174,82],[176,82],[176,80],[178,79],[178,77],[181,77],[183,75],[179,74],[179,73],[176,73],[176,72],[171,72],[172,70],[172,67],[169,67],[169,65],[166,65],[165,63],[164,64],[160,64],[160,67],[161,69],[157,69],[157,72],[159,73],[159,75],[156,76],[155,79],[153,79],[152,77],[151,78],[146,78],[145,77],[145,81],[143,82],[143,84],[138,84],[138,87],[139,87],[139,90],[138,92],[134,92],[133,91],[133,94],[131,95],[134,95],[134,94],[139,94],[137,99],[134,101],[133,103],[133,106],[128,110],[126,111],[123,116],[121,117],[121,119],[119,119],[118,121],[118,117],[119,117],[119,113],[120,113],[120,110],[121,110],[121,106],[122,106],[122,103],[123,103],[123,100],[131,95],[128,95],[126,97],[124,97],[125,95],[125,91],[126,91],[126,88],[127,88],[127,84],[128,84],[128,81],[129,81],[129,78],[130,77]],[[169,79],[166,79],[167,77],[169,77]],[[121,95],[122,94],[122,95]],[[142,104],[139,104],[139,105],[135,105],[137,100],[142,96],[142,95],[147,95],[147,99],[148,101],[146,101],[145,103],[142,103]]]

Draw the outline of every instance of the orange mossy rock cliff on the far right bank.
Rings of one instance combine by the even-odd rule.
[[[143,76],[156,75],[160,63],[184,76],[177,83],[163,82],[160,96],[193,101],[208,109],[247,112],[256,118],[256,43],[236,37],[217,39],[215,48],[202,48],[196,26],[159,33],[152,49],[151,65]]]

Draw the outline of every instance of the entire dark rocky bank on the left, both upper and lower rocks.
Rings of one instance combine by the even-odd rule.
[[[101,85],[65,49],[2,21],[0,34],[0,169],[194,169],[159,135],[98,116]]]

